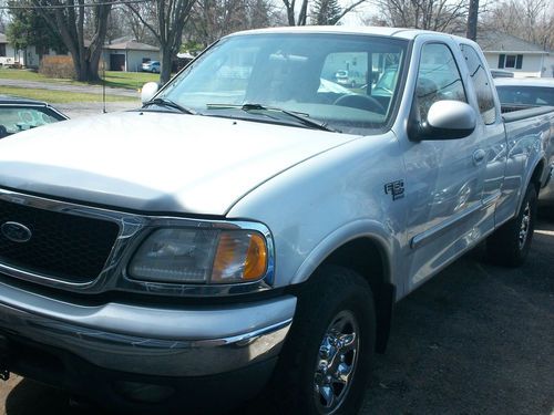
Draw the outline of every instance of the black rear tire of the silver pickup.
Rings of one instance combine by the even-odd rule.
[[[536,187],[531,184],[517,216],[486,239],[486,252],[494,263],[519,267],[525,262],[535,230],[536,200]]]

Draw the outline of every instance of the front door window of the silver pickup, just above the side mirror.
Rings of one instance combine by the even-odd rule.
[[[429,108],[438,101],[468,102],[454,55],[445,44],[423,45],[416,85],[416,100],[422,121],[427,120]]]

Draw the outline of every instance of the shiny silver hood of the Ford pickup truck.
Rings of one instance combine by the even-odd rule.
[[[151,212],[225,215],[356,136],[173,113],[66,121],[0,141],[0,187]]]

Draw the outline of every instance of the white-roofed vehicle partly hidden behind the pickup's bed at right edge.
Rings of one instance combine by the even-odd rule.
[[[533,108],[537,106],[554,106],[554,80],[544,77],[514,77],[494,80],[499,100],[504,113]],[[554,153],[554,136],[547,146],[548,153]],[[554,163],[550,166],[554,172]],[[541,205],[554,205],[554,173],[541,190],[538,201]]]

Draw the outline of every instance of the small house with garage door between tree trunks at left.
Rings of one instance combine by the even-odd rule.
[[[144,62],[160,61],[160,48],[121,39],[106,44],[102,58],[109,71],[140,72]]]

